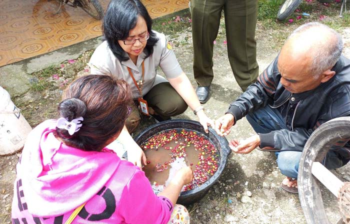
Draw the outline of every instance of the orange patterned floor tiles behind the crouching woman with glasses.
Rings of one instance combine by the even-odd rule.
[[[142,0],[152,18],[188,7],[189,0]],[[99,0],[103,9],[109,0]],[[56,0],[0,0],[0,66],[101,35],[101,20]]]

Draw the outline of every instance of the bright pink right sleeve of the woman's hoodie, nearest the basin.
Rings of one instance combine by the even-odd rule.
[[[126,223],[167,223],[173,205],[169,199],[153,193],[143,171],[137,170],[123,189],[118,213]]]

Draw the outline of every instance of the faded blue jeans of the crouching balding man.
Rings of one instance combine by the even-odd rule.
[[[268,105],[248,113],[245,117],[256,133],[268,133],[286,128],[278,109]],[[285,176],[296,178],[301,151],[278,151],[274,154],[277,157],[280,172]]]

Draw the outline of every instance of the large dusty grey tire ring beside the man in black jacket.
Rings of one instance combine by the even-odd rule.
[[[312,162],[322,162],[331,146],[350,137],[350,117],[338,117],[320,125],[310,135],[303,148],[298,168],[299,199],[307,223],[329,223],[326,216],[320,182],[311,173]]]

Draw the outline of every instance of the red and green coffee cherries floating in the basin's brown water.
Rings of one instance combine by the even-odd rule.
[[[170,142],[174,142],[175,146],[164,146]],[[165,161],[164,164],[157,163],[155,165],[156,171],[161,172],[168,168],[168,165],[177,158],[187,157],[186,148],[193,146],[194,150],[198,152],[198,163],[194,165],[193,180],[186,184],[182,190],[190,190],[201,185],[207,181],[217,170],[219,165],[219,154],[217,149],[205,137],[204,134],[197,133],[193,130],[186,129],[170,129],[164,130],[154,134],[141,144],[143,150],[158,150],[163,148],[169,150],[171,159]],[[147,162],[148,163],[148,162]]]

